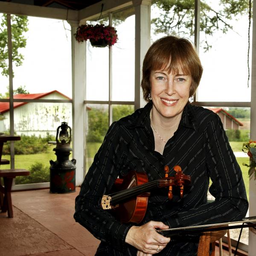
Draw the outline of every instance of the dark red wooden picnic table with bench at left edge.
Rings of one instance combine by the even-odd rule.
[[[2,160],[3,144],[11,140],[20,140],[20,136],[0,135],[0,163],[8,163],[8,160]],[[0,170],[0,178],[3,177],[3,186],[0,180],[0,207],[2,212],[8,212],[8,217],[13,217],[12,210],[12,181],[16,176],[29,175],[25,169],[5,169]],[[3,196],[4,195],[4,196]]]

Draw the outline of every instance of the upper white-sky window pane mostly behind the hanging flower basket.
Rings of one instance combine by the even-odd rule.
[[[104,22],[103,22],[104,21]],[[97,22],[89,21],[96,25]],[[99,23],[106,23],[100,20]],[[108,47],[92,47],[90,41],[86,41],[86,99],[108,100],[109,77],[109,50]]]

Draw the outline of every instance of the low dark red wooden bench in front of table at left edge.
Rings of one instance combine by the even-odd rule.
[[[1,204],[2,212],[8,212],[8,217],[13,218],[12,210],[12,180],[16,176],[27,176],[29,171],[25,169],[5,169],[0,170],[0,177],[3,177],[3,186],[0,185],[0,193],[4,194],[3,203]]]

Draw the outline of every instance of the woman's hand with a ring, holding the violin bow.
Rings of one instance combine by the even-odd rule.
[[[159,253],[169,243],[170,238],[160,235],[155,228],[169,227],[163,222],[149,221],[140,227],[132,226],[128,231],[125,242],[138,249],[137,256],[151,256]]]

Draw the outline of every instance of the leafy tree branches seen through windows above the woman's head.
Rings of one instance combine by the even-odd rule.
[[[151,20],[155,26],[155,33],[177,35],[182,32],[194,34],[195,1],[194,0],[152,0],[160,9],[157,18]],[[211,48],[207,36],[212,36],[221,30],[224,34],[233,29],[230,21],[248,11],[247,0],[220,0],[221,10],[214,10],[210,5],[201,1],[200,31],[205,33],[204,49]]]

